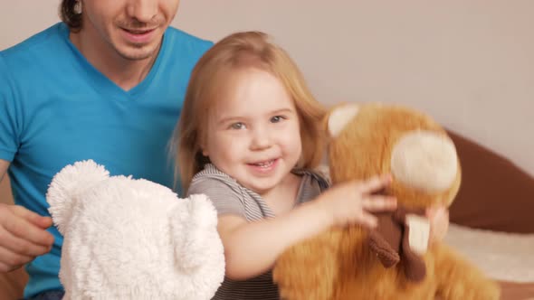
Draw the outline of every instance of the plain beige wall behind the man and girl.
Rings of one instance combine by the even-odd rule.
[[[0,0],[0,49],[54,23],[57,3]],[[321,101],[423,109],[534,174],[532,12],[529,0],[182,0],[175,24],[211,40],[272,33]]]

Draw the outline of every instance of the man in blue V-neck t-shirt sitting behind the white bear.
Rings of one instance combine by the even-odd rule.
[[[211,46],[169,27],[179,0],[62,0],[62,23],[0,52],[0,271],[26,266],[24,297],[61,298],[62,236],[45,192],[66,164],[171,186],[167,140],[189,73]]]

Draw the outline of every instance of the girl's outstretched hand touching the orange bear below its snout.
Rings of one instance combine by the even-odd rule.
[[[375,176],[367,181],[340,183],[323,192],[318,199],[320,209],[331,217],[331,224],[346,226],[360,224],[368,228],[377,226],[377,217],[369,212],[394,211],[395,197],[373,194],[384,189],[391,176]]]

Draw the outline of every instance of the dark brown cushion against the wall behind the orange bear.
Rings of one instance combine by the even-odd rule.
[[[462,164],[451,221],[485,230],[534,233],[534,177],[482,145],[449,134]]]

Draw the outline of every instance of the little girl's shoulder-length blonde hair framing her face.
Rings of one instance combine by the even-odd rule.
[[[232,70],[256,68],[270,72],[281,81],[295,103],[300,119],[302,155],[299,167],[313,168],[322,158],[323,108],[313,98],[304,77],[289,55],[260,32],[234,33],[225,37],[196,63],[191,73],[182,113],[172,137],[171,155],[175,155],[175,173],[184,192],[195,173],[209,159],[202,155],[210,105],[224,89],[224,80]]]

